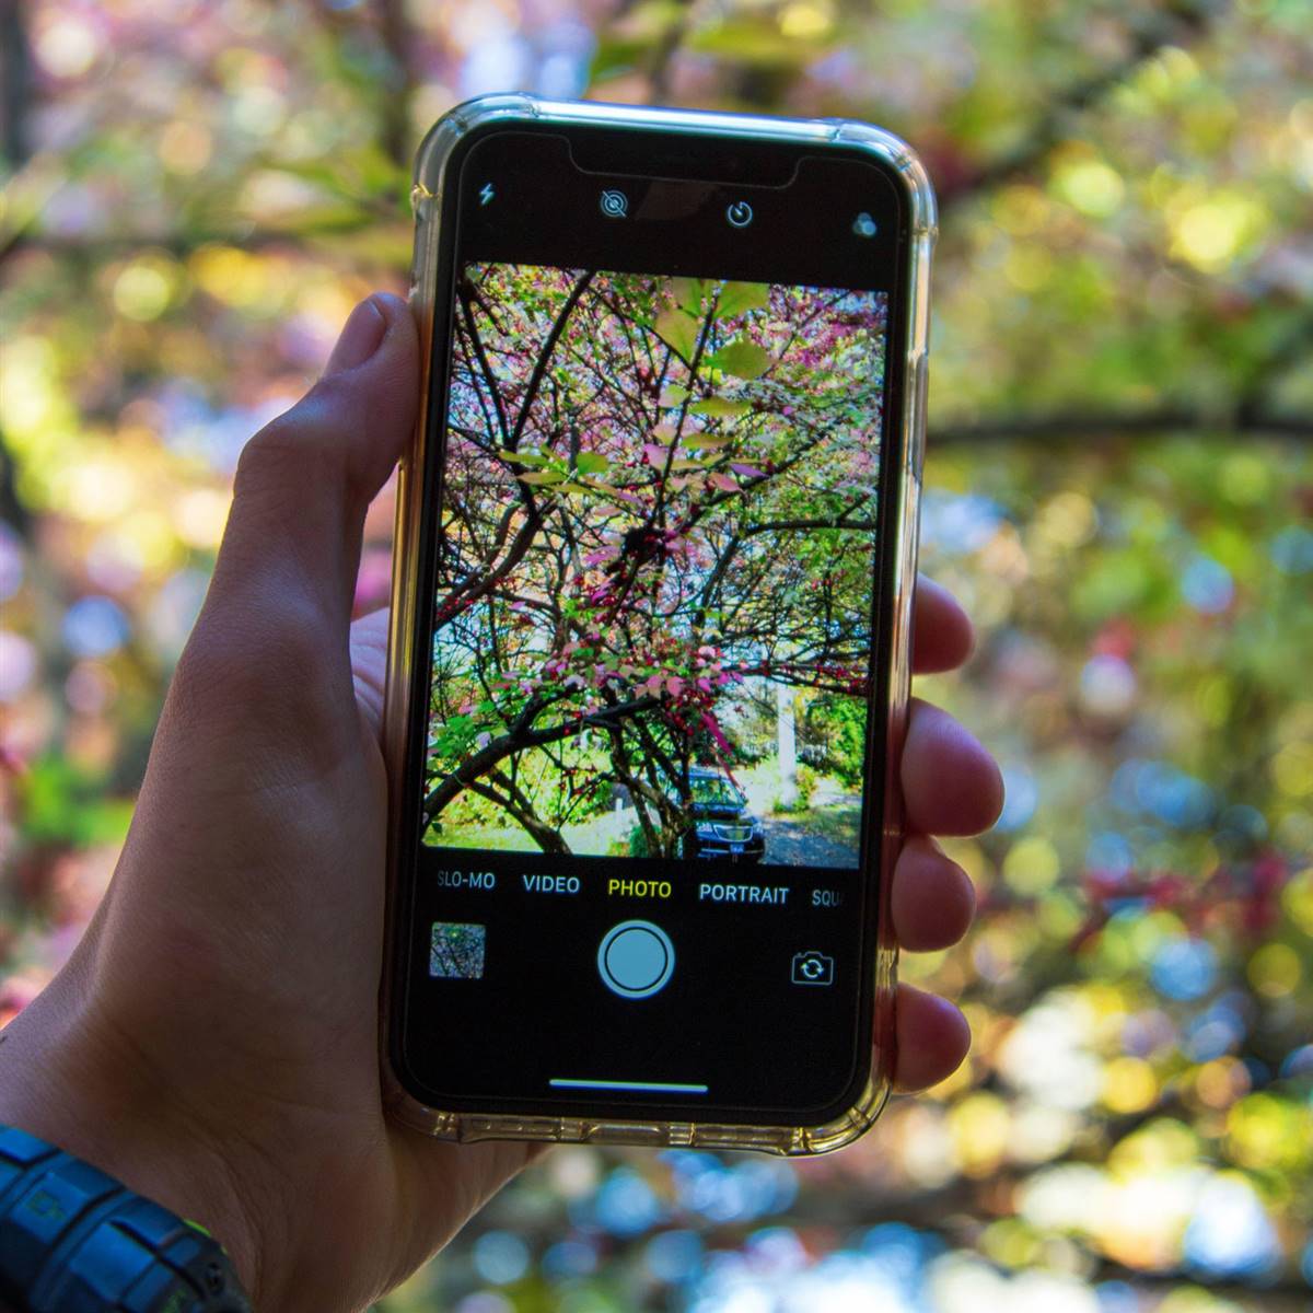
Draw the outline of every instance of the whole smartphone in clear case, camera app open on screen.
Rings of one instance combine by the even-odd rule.
[[[893,1071],[935,202],[864,123],[495,96],[415,172],[404,1123],[818,1153]]]

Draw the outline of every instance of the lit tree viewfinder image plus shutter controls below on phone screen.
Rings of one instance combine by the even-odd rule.
[[[460,270],[410,1023],[458,1049],[452,1104],[844,1095],[886,316]],[[798,1040],[765,1078],[772,1016]]]

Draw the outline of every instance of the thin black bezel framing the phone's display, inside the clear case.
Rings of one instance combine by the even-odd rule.
[[[635,1100],[608,1100],[608,1099],[545,1099],[536,1091],[524,1090],[511,1092],[498,1098],[473,1098],[445,1094],[424,1083],[415,1073],[407,1058],[407,1014],[410,1004],[410,983],[414,979],[414,941],[415,941],[415,889],[416,889],[416,857],[420,850],[418,835],[418,807],[423,793],[423,769],[425,752],[425,733],[428,705],[428,678],[431,670],[431,626],[432,626],[432,580],[435,570],[436,534],[433,516],[440,506],[442,488],[444,463],[444,437],[446,423],[446,390],[449,385],[448,344],[452,337],[450,316],[454,306],[454,280],[460,268],[471,259],[498,259],[507,263],[550,263],[558,267],[572,267],[569,256],[533,259],[524,253],[504,253],[499,256],[479,256],[467,253],[461,248],[461,209],[462,202],[470,204],[470,188],[466,185],[465,168],[471,151],[490,138],[506,134],[542,134],[545,137],[566,138],[571,146],[584,143],[588,147],[588,164],[604,164],[605,168],[590,168],[587,172],[593,177],[604,177],[611,173],[617,177],[642,179],[650,175],[641,172],[626,172],[626,165],[632,167],[635,155],[647,159],[664,158],[672,161],[695,161],[697,172],[683,173],[681,176],[723,179],[725,185],[744,186],[751,185],[743,177],[747,165],[743,164],[746,154],[756,154],[756,165],[765,167],[771,160],[776,168],[776,177],[786,169],[781,169],[780,161],[785,165],[792,161],[797,164],[804,158],[847,159],[864,168],[881,173],[890,184],[889,190],[897,207],[895,240],[882,248],[882,257],[873,259],[874,272],[871,274],[868,286],[880,286],[889,293],[888,312],[888,340],[885,355],[885,410],[881,452],[881,492],[880,492],[880,530],[877,532],[877,569],[872,595],[872,634],[876,651],[880,659],[874,664],[874,680],[871,697],[871,716],[867,729],[867,784],[864,788],[863,804],[863,830],[865,834],[864,848],[867,863],[859,876],[867,880],[864,897],[864,916],[861,935],[861,979],[869,982],[863,990],[860,999],[859,1020],[856,1035],[853,1036],[853,1066],[852,1075],[843,1094],[831,1104],[819,1108],[798,1108],[780,1106],[762,1107],[735,1107],[700,1106],[691,1108],[683,1104],[659,1104],[655,1102]],[[885,750],[888,744],[888,729],[890,716],[890,672],[892,672],[892,643],[894,625],[894,583],[899,557],[899,544],[894,541],[894,527],[898,517],[895,508],[905,498],[905,481],[910,477],[907,467],[907,453],[905,446],[905,425],[902,418],[905,407],[909,404],[909,389],[913,381],[907,377],[907,298],[910,295],[911,278],[911,197],[907,192],[906,180],[897,169],[873,156],[860,147],[823,143],[800,143],[793,140],[779,142],[752,142],[751,152],[746,150],[746,143],[730,135],[717,137],[702,133],[675,133],[655,129],[646,130],[620,130],[603,127],[584,127],[578,125],[536,123],[532,121],[487,123],[469,133],[466,138],[453,148],[445,169],[444,185],[441,188],[441,211],[437,215],[437,232],[431,240],[437,242],[435,251],[435,280],[433,280],[433,334],[432,352],[429,358],[429,385],[427,406],[427,431],[423,449],[427,453],[421,469],[412,471],[412,477],[421,482],[420,506],[421,519],[418,529],[418,545],[420,559],[414,571],[415,595],[410,599],[414,614],[414,624],[406,635],[411,643],[410,662],[411,670],[420,678],[415,678],[408,691],[407,723],[404,734],[406,758],[404,768],[399,781],[394,781],[394,788],[399,786],[402,798],[402,821],[399,832],[406,836],[400,851],[394,855],[395,863],[395,892],[397,916],[399,932],[395,939],[397,951],[390,964],[393,970],[391,987],[394,1007],[391,1008],[390,1032],[386,1037],[393,1069],[407,1092],[428,1107],[450,1109],[453,1112],[483,1112],[488,1115],[529,1115],[529,1116],[584,1116],[604,1117],[613,1121],[641,1121],[650,1124],[655,1120],[679,1123],[737,1123],[743,1125],[776,1127],[781,1124],[798,1124],[800,1119],[811,1125],[821,1125],[836,1116],[846,1113],[861,1098],[871,1077],[872,1048],[871,1037],[873,1031],[873,1007],[876,997],[876,970],[874,956],[880,941],[880,910],[881,889],[880,863],[882,860],[884,844],[881,831],[888,819],[888,793],[890,780],[886,777]],[[726,161],[738,161],[739,176],[733,177],[725,172]],[[751,161],[750,161],[751,164]],[[733,171],[731,171],[733,172]],[[671,179],[672,171],[663,168],[659,175]],[[788,236],[781,236],[788,242]],[[790,255],[797,253],[793,247]],[[873,252],[874,255],[874,252]],[[586,261],[587,267],[617,268],[620,261]],[[663,272],[685,272],[671,260]],[[650,265],[646,272],[650,272]],[[695,272],[688,269],[687,272]],[[720,265],[702,276],[737,276],[750,277],[746,272],[726,270]],[[813,286],[856,285],[853,282],[838,284],[827,281],[823,276],[817,277],[777,277],[771,272],[759,272],[759,281],[797,282]],[[642,859],[635,859],[635,867],[641,868]]]

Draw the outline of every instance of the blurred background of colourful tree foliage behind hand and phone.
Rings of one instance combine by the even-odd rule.
[[[969,943],[905,962],[972,1058],[829,1159],[558,1150],[383,1308],[1309,1308],[1306,0],[0,0],[0,1020],[113,868],[243,441],[404,288],[428,123],[868,118],[943,204],[923,559],[981,642],[920,691],[1008,784]]]

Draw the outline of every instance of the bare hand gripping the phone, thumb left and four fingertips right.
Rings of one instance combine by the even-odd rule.
[[[320,382],[248,445],[114,880],[0,1046],[0,1121],[204,1222],[261,1310],[365,1306],[540,1152],[445,1144],[383,1115],[386,617],[352,625],[351,608],[419,377],[410,311],[373,297]],[[969,647],[965,614],[922,583],[916,668]],[[928,835],[990,825],[999,776],[918,701],[902,783],[894,931],[943,948],[973,894]],[[907,1090],[969,1043],[951,1003],[909,986],[897,1037]]]

